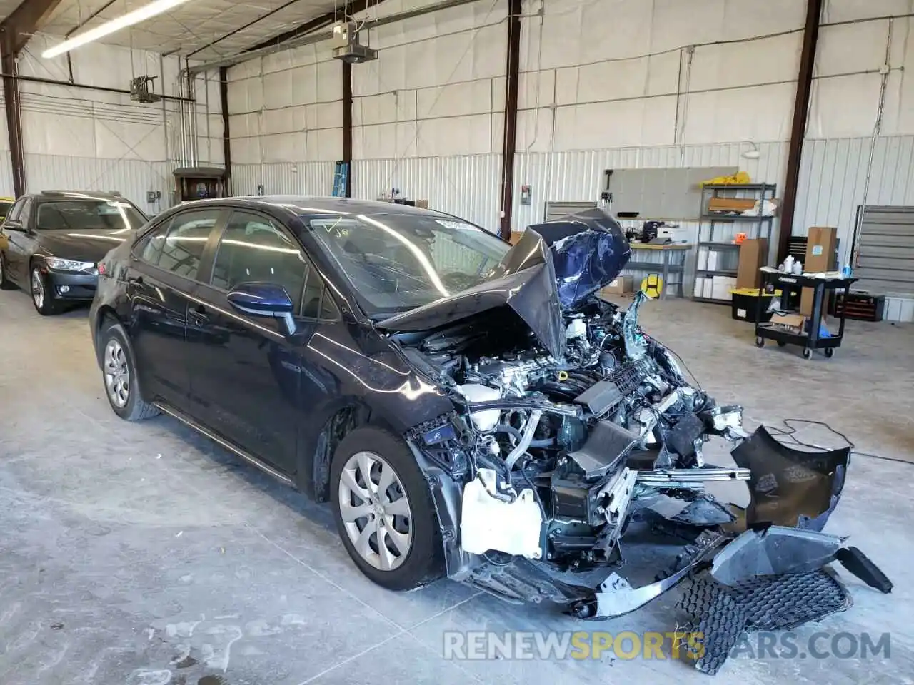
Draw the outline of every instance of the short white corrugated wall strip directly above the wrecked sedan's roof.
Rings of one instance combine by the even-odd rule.
[[[232,164],[232,193],[257,195],[330,195],[334,187],[333,162]]]

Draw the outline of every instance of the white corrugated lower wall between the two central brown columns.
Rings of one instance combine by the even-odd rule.
[[[501,169],[501,154],[356,160],[352,194],[375,199],[397,188],[410,199],[428,200],[431,209],[497,231]]]

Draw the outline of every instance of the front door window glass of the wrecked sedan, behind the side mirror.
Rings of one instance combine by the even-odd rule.
[[[301,248],[280,227],[265,216],[235,212],[219,242],[212,285],[231,290],[245,282],[277,283],[298,302],[307,273]]]

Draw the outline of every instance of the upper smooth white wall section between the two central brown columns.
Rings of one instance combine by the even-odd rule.
[[[365,16],[429,4],[390,0]],[[352,69],[353,158],[500,152],[506,19],[505,2],[480,0],[367,31],[378,57]]]

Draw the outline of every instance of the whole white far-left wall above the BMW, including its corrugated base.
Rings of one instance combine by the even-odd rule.
[[[40,57],[48,44],[58,40],[41,34],[33,37],[20,55],[19,73],[69,80],[66,57]],[[131,79],[149,75],[157,77],[157,93],[177,94],[178,58],[91,43],[75,51],[71,61],[76,83],[127,90]],[[207,138],[207,121],[214,116],[221,119],[218,84],[215,89],[214,98],[213,86],[207,89],[206,79],[198,79],[197,149],[201,164],[222,163],[221,128],[213,133],[218,144]],[[170,205],[174,185],[171,173],[182,163],[175,102],[143,104],[126,94],[28,80],[19,82],[19,90],[28,190],[117,190],[149,212]],[[5,125],[2,147],[8,149]],[[2,176],[0,182],[5,183]],[[161,192],[162,200],[147,204],[147,191]]]

